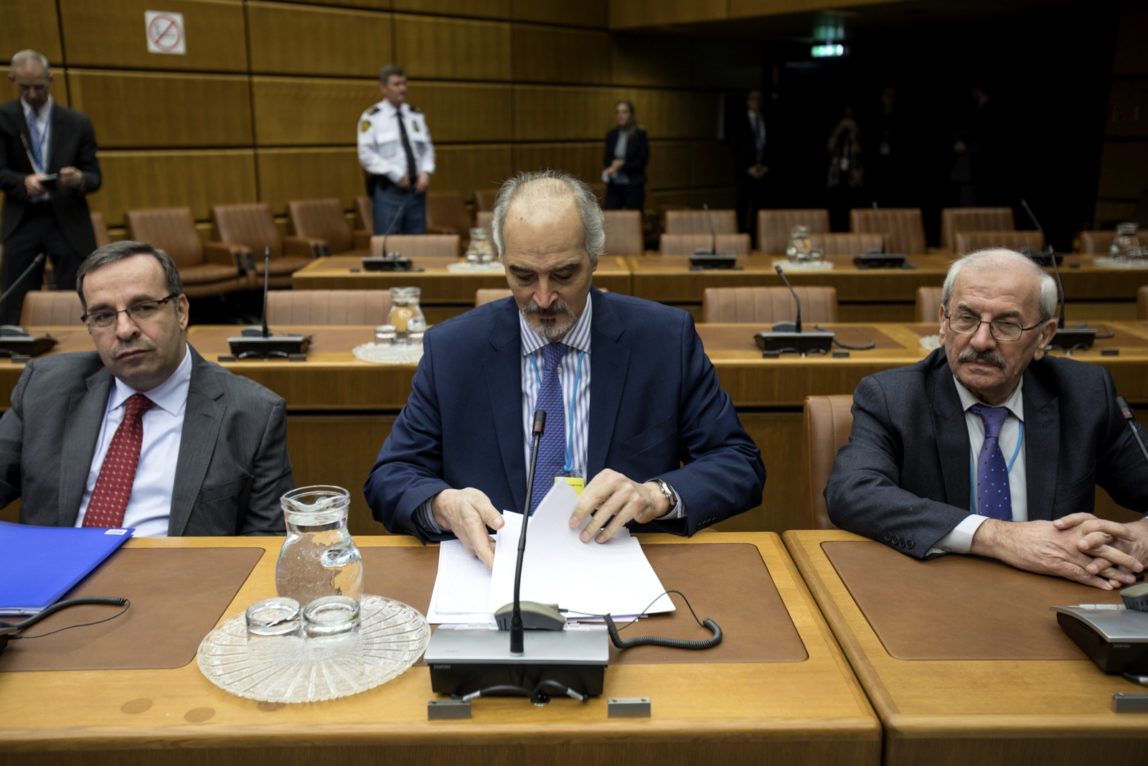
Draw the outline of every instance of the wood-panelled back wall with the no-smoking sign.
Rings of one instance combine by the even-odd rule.
[[[184,15],[186,55],[147,52],[145,11]],[[0,57],[53,64],[54,96],[90,115],[103,188],[124,210],[363,193],[359,114],[378,71],[406,69],[439,154],[434,188],[498,185],[517,170],[602,171],[613,103],[650,132],[665,199],[731,196],[720,93],[760,82],[758,47],[612,33],[606,0],[0,0]],[[15,93],[11,94],[15,98]]]

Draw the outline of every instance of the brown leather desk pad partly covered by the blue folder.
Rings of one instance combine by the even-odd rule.
[[[68,594],[123,596],[121,617],[44,639],[10,641],[0,671],[183,667],[215,628],[263,555],[262,548],[123,548]],[[37,622],[38,635],[110,617],[118,606],[72,606]]]

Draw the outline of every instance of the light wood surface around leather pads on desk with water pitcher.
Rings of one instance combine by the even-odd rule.
[[[419,548],[405,537],[356,542],[364,550]],[[681,663],[627,658],[606,670],[603,696],[585,704],[561,698],[535,707],[490,697],[472,703],[470,720],[453,721],[427,720],[434,695],[422,665],[370,691],[303,705],[230,695],[207,681],[194,661],[171,670],[0,672],[0,765],[877,764],[876,717],[776,535],[643,537],[644,544],[730,542],[760,552],[805,647],[804,661],[713,664],[699,661],[698,653]],[[274,537],[132,540],[123,552],[264,548],[222,621],[273,595],[280,544]],[[114,565],[115,558],[108,563]],[[366,575],[370,583],[373,575]],[[374,577],[386,583],[404,573]],[[740,597],[731,595],[735,604]],[[424,612],[427,606],[412,605]],[[142,611],[129,614],[146,619]],[[608,697],[639,696],[651,698],[650,718],[607,718]]]

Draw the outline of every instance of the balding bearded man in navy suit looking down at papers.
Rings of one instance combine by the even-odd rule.
[[[569,520],[583,542],[622,525],[692,534],[761,502],[761,455],[690,316],[591,288],[602,219],[568,176],[503,185],[492,233],[513,297],[427,332],[364,488],[389,531],[457,536],[490,565],[488,528],[526,504],[536,409],[548,417],[530,508],[556,479],[584,483]]]

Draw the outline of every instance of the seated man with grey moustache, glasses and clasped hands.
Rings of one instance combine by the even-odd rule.
[[[1108,372],[1045,355],[1052,278],[1018,253],[983,250],[953,264],[941,301],[943,348],[854,392],[829,517],[916,558],[974,554],[1099,588],[1132,582],[1148,564],[1148,520],[1091,511],[1097,483],[1148,508],[1148,463]]]

